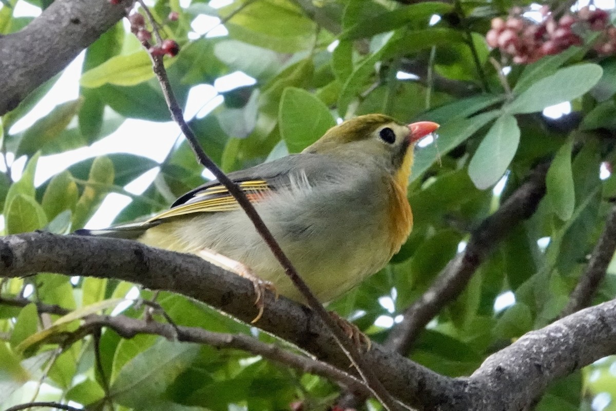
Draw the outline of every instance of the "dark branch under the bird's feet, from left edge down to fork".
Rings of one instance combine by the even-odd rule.
[[[174,291],[245,322],[250,322],[257,311],[251,282],[192,254],[158,250],[128,240],[41,232],[0,240],[0,277],[39,271],[114,278]],[[266,293],[265,312],[256,325],[323,362],[357,375],[320,317],[305,306],[284,297],[275,301],[272,293]],[[458,384],[378,344],[373,343],[363,359],[392,395],[414,406],[437,401],[441,393],[452,391]]]

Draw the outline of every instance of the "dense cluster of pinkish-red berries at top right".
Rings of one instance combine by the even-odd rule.
[[[492,19],[492,28],[485,35],[490,47],[498,47],[517,64],[535,62],[544,55],[558,54],[570,46],[582,44],[582,33],[600,32],[594,43],[599,54],[616,52],[616,27],[610,25],[606,10],[582,7],[575,14],[556,19],[548,6],[541,7],[543,20],[535,22],[522,17],[522,10],[513,10],[504,20]]]

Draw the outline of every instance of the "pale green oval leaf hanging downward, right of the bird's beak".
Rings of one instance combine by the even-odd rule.
[[[496,119],[468,165],[468,174],[478,189],[485,190],[500,180],[519,143],[520,129],[516,118],[503,115]]]

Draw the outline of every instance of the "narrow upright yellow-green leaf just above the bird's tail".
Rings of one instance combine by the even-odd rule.
[[[114,168],[111,160],[106,157],[97,157],[92,163],[87,182],[95,185],[86,185],[81,193],[81,197],[75,205],[73,213],[73,228],[78,229],[84,226],[92,217],[96,208],[108,193],[107,189],[101,187],[105,184],[113,184]]]

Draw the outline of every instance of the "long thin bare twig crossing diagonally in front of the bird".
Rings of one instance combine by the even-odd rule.
[[[147,10],[145,4],[140,0],[142,7]],[[152,14],[147,11],[148,17],[152,18]],[[155,25],[153,25],[155,27]],[[157,35],[157,38],[160,35]],[[355,346],[354,341],[346,335],[346,333],[336,324],[335,320],[328,314],[323,305],[318,301],[318,299],[312,294],[310,288],[306,285],[306,282],[302,280],[299,276],[298,272],[293,266],[293,263],[288,259],[285,253],[278,245],[278,242],[275,240],[274,235],[267,229],[265,223],[254,209],[251,202],[246,197],[245,193],[241,191],[237,185],[229,179],[222,172],[220,168],[211,160],[211,158],[206,155],[206,153],[201,148],[197,140],[197,136],[193,133],[192,129],[186,121],[184,120],[184,114],[182,113],[182,108],[180,108],[179,104],[177,104],[176,97],[171,89],[171,84],[169,83],[169,78],[167,76],[166,70],[163,65],[163,57],[160,55],[150,54],[152,58],[153,71],[158,78],[158,82],[161,85],[163,90],[164,99],[167,102],[169,107],[169,112],[171,112],[171,116],[174,121],[179,125],[180,129],[184,133],[184,136],[188,140],[188,143],[192,147],[195,155],[199,159],[201,165],[205,166],[214,176],[218,179],[218,181],[224,185],[224,187],[229,190],[229,193],[235,198],[241,208],[245,211],[248,218],[254,224],[255,229],[261,235],[264,242],[270,248],[275,258],[280,262],[280,265],[285,270],[285,274],[290,277],[291,281],[295,285],[296,288],[302,293],[302,296],[306,299],[310,308],[312,308],[320,319],[325,323],[328,330],[334,336],[334,339],[342,348],[342,351],[349,357],[352,364],[357,369],[357,372],[362,376],[363,380],[368,383],[371,390],[373,391],[374,396],[378,399],[383,406],[389,410],[399,409],[398,403],[391,397],[391,394],[384,388],[381,382],[378,380],[376,374],[371,370],[370,367],[366,364],[365,360],[363,360],[362,354],[360,354],[359,349]]]

